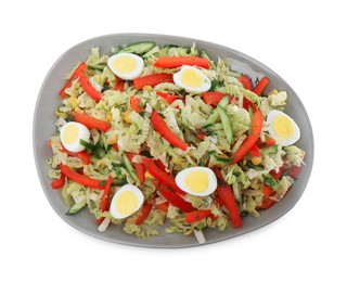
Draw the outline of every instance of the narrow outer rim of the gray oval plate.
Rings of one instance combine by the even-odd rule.
[[[258,226],[256,226],[254,228],[250,228],[248,230],[243,230],[242,232],[239,232],[236,234],[231,234],[229,236],[223,236],[223,238],[220,238],[220,239],[217,238],[217,239],[214,239],[214,240],[207,240],[206,243],[203,244],[203,245],[208,245],[208,244],[213,244],[213,243],[230,240],[232,238],[249,233],[249,232],[255,231],[255,230],[257,230],[259,228],[268,226],[269,223],[271,223],[271,222],[280,219],[284,215],[286,215],[297,204],[297,202],[300,200],[301,195],[306,191],[308,182],[309,182],[309,179],[310,179],[310,176],[311,176],[311,172],[312,172],[312,169],[313,169],[313,163],[314,163],[314,138],[313,138],[313,130],[312,130],[311,121],[310,121],[310,118],[309,118],[309,116],[307,114],[307,111],[306,111],[306,107],[305,107],[304,103],[301,102],[299,95],[294,91],[294,89],[280,75],[278,75],[274,70],[269,68],[264,63],[259,62],[258,60],[256,60],[256,59],[254,59],[254,57],[252,57],[252,56],[249,56],[249,55],[247,55],[247,54],[245,54],[243,52],[240,52],[240,51],[237,51],[235,49],[232,49],[232,48],[229,48],[229,47],[226,47],[226,46],[221,46],[221,44],[218,44],[218,43],[214,43],[214,42],[210,42],[210,41],[201,40],[201,39],[196,39],[196,38],[181,37],[181,36],[176,36],[176,35],[147,34],[147,33],[119,33],[119,34],[107,34],[107,35],[92,37],[92,38],[86,39],[86,40],[83,40],[81,42],[78,42],[78,43],[74,44],[73,47],[70,47],[69,49],[67,49],[52,64],[52,66],[50,67],[49,72],[47,73],[47,75],[46,75],[46,77],[44,77],[44,79],[42,81],[42,85],[40,87],[40,90],[39,90],[39,93],[38,93],[38,97],[37,97],[37,101],[36,101],[36,104],[35,104],[35,110],[34,110],[35,112],[34,112],[34,118],[33,118],[33,132],[31,132],[33,136],[31,137],[33,137],[34,157],[35,157],[35,164],[36,164],[37,174],[38,174],[38,177],[39,177],[40,184],[41,184],[41,188],[43,190],[43,193],[44,193],[46,197],[48,198],[48,201],[49,201],[51,207],[53,208],[53,210],[57,214],[57,216],[61,219],[63,219],[66,223],[68,223],[70,227],[79,230],[80,232],[82,232],[85,234],[88,234],[88,235],[91,235],[91,236],[97,238],[97,239],[101,239],[103,241],[112,242],[112,243],[131,245],[131,246],[139,246],[139,247],[152,247],[152,248],[153,247],[154,248],[182,248],[182,247],[202,246],[197,242],[195,242],[193,244],[183,244],[183,245],[180,245],[180,244],[166,245],[166,244],[149,244],[146,240],[142,240],[142,243],[132,242],[132,240],[123,241],[123,240],[118,240],[117,238],[110,239],[110,238],[103,236],[102,235],[103,233],[100,233],[98,231],[97,225],[95,225],[95,232],[90,232],[90,231],[81,228],[80,226],[78,226],[76,223],[72,225],[72,222],[69,220],[67,220],[66,217],[62,216],[61,210],[57,208],[57,206],[53,202],[53,198],[51,198],[51,196],[49,195],[48,189],[50,189],[50,188],[47,188],[47,185],[44,183],[43,175],[41,174],[41,171],[39,169],[40,168],[40,162],[42,162],[42,161],[40,161],[39,157],[38,157],[38,151],[37,151],[37,146],[36,146],[36,133],[37,133],[37,130],[38,130],[38,128],[37,128],[37,118],[38,118],[38,113],[39,113],[39,104],[40,104],[40,101],[41,101],[41,97],[43,94],[43,89],[46,88],[46,85],[49,81],[49,78],[50,78],[52,72],[54,70],[56,65],[73,50],[78,49],[79,47],[88,44],[88,42],[92,42],[92,41],[95,41],[95,40],[102,40],[102,39],[111,38],[111,37],[112,38],[117,38],[117,37],[124,37],[124,36],[125,37],[129,37],[129,38],[133,38],[134,39],[133,42],[137,41],[137,38],[157,37],[157,38],[171,40],[171,41],[174,41],[174,40],[176,40],[176,41],[179,41],[179,40],[191,41],[191,42],[195,42],[197,47],[198,47],[200,43],[202,43],[202,44],[210,46],[214,49],[215,48],[222,49],[222,50],[224,50],[227,52],[236,54],[236,55],[245,59],[246,63],[252,62],[253,64],[259,66],[266,73],[271,73],[272,75],[277,76],[280,80],[282,80],[282,82],[290,88],[291,94],[295,95],[296,102],[299,103],[299,106],[301,107],[301,110],[304,110],[304,115],[306,117],[305,120],[306,120],[308,129],[309,129],[308,134],[311,137],[310,140],[308,140],[309,143],[310,143],[309,144],[310,145],[310,159],[309,159],[310,161],[310,166],[307,168],[308,170],[306,171],[305,181],[304,181],[304,183],[301,183],[300,193],[296,196],[295,201],[292,201],[291,205],[287,208],[285,208],[284,211],[282,211],[280,215],[274,217],[272,220],[268,220],[268,221],[264,222],[262,225],[258,225]],[[138,40],[138,41],[140,41],[140,40]],[[110,50],[110,52],[111,52],[111,50]],[[44,177],[47,178],[47,175]],[[119,226],[119,228],[120,227],[123,227],[123,226]],[[133,234],[126,234],[126,235],[129,239],[134,236]],[[170,234],[163,233],[159,236],[165,236],[165,235],[168,236]],[[182,234],[180,234],[180,235],[183,236]]]

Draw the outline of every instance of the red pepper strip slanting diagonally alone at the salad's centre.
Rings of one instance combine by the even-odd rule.
[[[171,145],[183,151],[188,149],[189,144],[184,140],[178,138],[175,132],[172,132],[172,130],[165,123],[164,118],[160,117],[158,112],[154,110],[151,117],[154,130],[157,131],[164,139],[166,139]]]

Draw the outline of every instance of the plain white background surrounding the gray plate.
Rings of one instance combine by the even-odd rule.
[[[346,5],[298,2],[2,3],[0,280],[346,281]],[[151,249],[90,238],[54,213],[33,154],[40,86],[72,46],[129,31],[233,48],[265,63],[295,89],[312,123],[316,158],[309,184],[287,215],[221,243]]]

